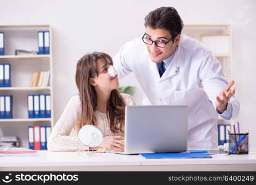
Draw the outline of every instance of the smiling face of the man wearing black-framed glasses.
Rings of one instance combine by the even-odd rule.
[[[152,41],[159,41],[166,43],[171,39],[170,32],[161,28],[153,29],[151,27],[146,27],[146,34],[144,38],[151,39]],[[180,35],[175,38],[175,41],[168,42],[165,47],[158,47],[153,43],[152,45],[146,44],[147,51],[151,57],[152,62],[158,63],[162,60],[168,59],[173,52],[175,52],[176,46],[180,41]]]

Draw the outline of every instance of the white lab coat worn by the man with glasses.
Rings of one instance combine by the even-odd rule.
[[[134,73],[146,95],[143,104],[188,105],[188,149],[217,148],[215,101],[228,82],[209,49],[195,39],[181,35],[162,78],[141,38],[126,43],[113,60],[118,78]],[[239,102],[233,96],[229,103],[234,118],[239,112]]]

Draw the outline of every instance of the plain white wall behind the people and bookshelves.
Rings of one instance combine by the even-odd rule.
[[[173,6],[185,24],[233,25],[234,80],[241,102],[237,120],[250,129],[250,146],[256,148],[256,1],[60,1],[0,0],[0,25],[49,23],[54,31],[54,110],[56,120],[75,94],[75,66],[87,52],[114,56],[126,41],[144,33],[144,16],[160,6]],[[120,81],[138,86],[133,75]],[[138,87],[135,99],[142,96]]]

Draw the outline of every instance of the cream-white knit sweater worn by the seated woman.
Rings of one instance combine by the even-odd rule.
[[[134,105],[134,101],[129,94],[121,94],[126,105]],[[52,129],[51,136],[47,142],[47,149],[50,151],[77,151],[88,150],[88,147],[83,146],[78,140],[78,129],[75,123],[81,115],[81,102],[78,95],[73,96],[68,101],[60,119]],[[109,120],[106,113],[96,110],[97,127],[102,131],[104,136],[121,135],[123,133],[114,134],[110,130]]]

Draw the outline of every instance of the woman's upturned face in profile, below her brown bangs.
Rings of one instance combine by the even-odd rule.
[[[119,83],[117,75],[110,77],[109,73],[107,72],[109,65],[110,64],[105,59],[97,60],[97,72],[99,75],[93,78],[93,86],[96,88],[96,90],[112,91],[113,89],[118,88]]]

